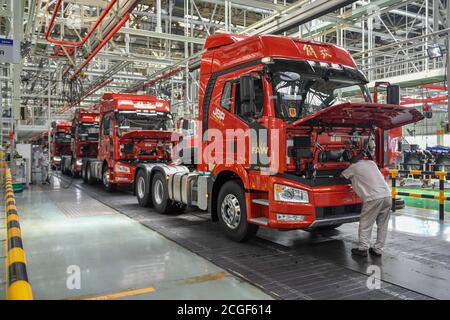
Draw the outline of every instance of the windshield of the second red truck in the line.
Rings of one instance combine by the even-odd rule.
[[[116,115],[117,132],[137,130],[173,130],[172,115],[166,112],[121,111]]]

